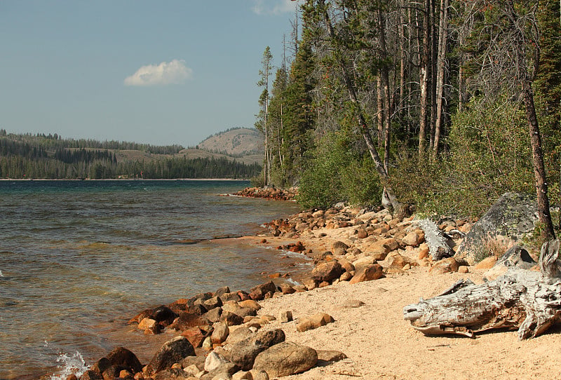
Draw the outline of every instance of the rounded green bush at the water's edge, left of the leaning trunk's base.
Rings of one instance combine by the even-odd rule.
[[[342,133],[330,133],[307,161],[298,202],[304,208],[328,208],[340,201],[378,204],[382,186],[373,165],[351,148]]]

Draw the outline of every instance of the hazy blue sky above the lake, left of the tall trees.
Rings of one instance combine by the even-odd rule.
[[[290,0],[1,0],[0,128],[195,145],[252,127]]]

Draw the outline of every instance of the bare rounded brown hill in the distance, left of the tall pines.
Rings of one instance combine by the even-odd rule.
[[[227,156],[263,156],[264,138],[256,129],[231,128],[207,137],[197,148]],[[261,159],[259,159],[261,161]]]

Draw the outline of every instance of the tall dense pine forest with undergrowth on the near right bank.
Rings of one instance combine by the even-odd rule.
[[[255,182],[478,217],[505,191],[559,203],[560,1],[306,0],[264,51]],[[553,230],[552,230],[553,231]]]

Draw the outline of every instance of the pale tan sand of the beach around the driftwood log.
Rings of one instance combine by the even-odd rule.
[[[341,230],[341,229],[339,229]],[[317,231],[302,236],[306,247],[323,249],[344,231]],[[254,240],[255,238],[245,238]],[[268,238],[266,245],[286,239]],[[295,240],[292,240],[294,243]],[[348,359],[315,367],[283,379],[561,379],[561,329],[518,341],[515,331],[480,333],[468,337],[427,337],[403,319],[403,307],[440,294],[461,278],[482,282],[484,270],[431,275],[414,267],[403,275],[351,285],[347,282],[307,292],[259,301],[259,314],[278,318],[292,311],[295,321],[278,320],[264,328],[281,328],[288,341],[318,350],[342,351]],[[362,301],[363,306],[356,306]],[[297,332],[297,318],[325,312],[335,322],[316,330]]]

